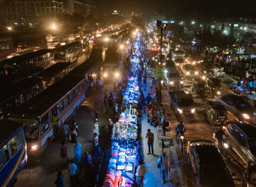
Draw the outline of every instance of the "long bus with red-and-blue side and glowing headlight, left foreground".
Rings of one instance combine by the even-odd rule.
[[[84,77],[67,75],[29,102],[11,110],[7,118],[23,123],[28,155],[38,156],[84,99]]]

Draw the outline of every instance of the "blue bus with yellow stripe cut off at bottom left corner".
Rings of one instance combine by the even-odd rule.
[[[26,137],[22,123],[0,121],[0,186],[11,186],[26,165]]]

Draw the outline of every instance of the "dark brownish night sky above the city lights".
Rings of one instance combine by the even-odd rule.
[[[102,12],[214,12],[225,15],[256,14],[255,0],[98,0]]]

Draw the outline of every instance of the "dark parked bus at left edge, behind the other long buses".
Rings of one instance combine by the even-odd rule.
[[[15,72],[30,66],[39,66],[46,69],[53,64],[53,50],[43,49],[1,61],[0,69],[5,75],[13,75]]]

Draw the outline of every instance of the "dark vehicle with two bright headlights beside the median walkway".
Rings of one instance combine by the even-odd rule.
[[[169,91],[170,105],[178,118],[193,120],[195,104],[191,93],[184,90]]]

